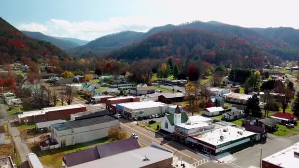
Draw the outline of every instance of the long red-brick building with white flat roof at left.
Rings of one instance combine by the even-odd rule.
[[[23,112],[18,115],[20,124],[24,123],[38,123],[45,121],[52,121],[57,119],[70,119],[70,115],[77,112],[85,112],[86,106],[82,104],[50,107],[43,110]]]

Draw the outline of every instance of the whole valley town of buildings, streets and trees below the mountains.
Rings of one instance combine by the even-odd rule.
[[[35,76],[21,62],[2,67],[21,74],[2,83],[0,142],[16,150],[1,162],[12,168],[268,168],[298,155],[298,67],[216,67],[205,83],[148,84],[131,81],[130,72],[75,76],[49,67]]]

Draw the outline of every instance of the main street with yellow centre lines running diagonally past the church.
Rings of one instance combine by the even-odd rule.
[[[197,154],[196,151],[187,148],[178,142],[164,140],[162,136],[153,133],[145,128],[142,128],[137,125],[137,122],[128,122],[127,120],[120,119],[120,127],[124,128],[126,132],[130,135],[135,133],[138,135],[138,141],[150,145],[152,142],[158,143],[174,152],[178,158],[181,158],[183,161],[188,164],[193,164],[195,162],[205,160],[206,158]],[[231,168],[225,164],[219,164],[214,162],[207,162],[200,166],[200,168]]]

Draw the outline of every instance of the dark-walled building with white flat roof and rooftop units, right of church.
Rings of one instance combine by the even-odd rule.
[[[192,142],[197,150],[219,155],[256,140],[256,134],[236,127],[225,126],[188,138],[186,140]]]

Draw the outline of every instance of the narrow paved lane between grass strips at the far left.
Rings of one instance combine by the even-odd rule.
[[[18,149],[22,163],[26,162],[27,154],[31,153],[27,146],[27,143],[22,139],[17,127],[11,127],[10,122],[7,124],[7,127],[8,127],[9,134],[11,135],[12,140],[15,142],[15,145]]]

